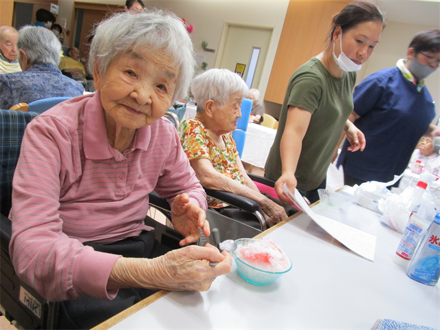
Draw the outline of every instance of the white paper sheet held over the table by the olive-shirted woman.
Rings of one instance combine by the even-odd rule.
[[[316,214],[309,208],[303,196],[300,192],[295,189],[295,194],[287,188],[284,184],[283,190],[287,196],[289,196],[292,201],[300,208],[305,214],[307,214],[313,221],[315,221],[320,228],[325,230],[335,239],[340,241],[352,250],[353,252],[363,256],[366,259],[374,261],[374,254],[376,248],[376,236],[362,232],[361,230],[345,225],[338,221],[329,219],[327,217],[322,217],[322,215]]]

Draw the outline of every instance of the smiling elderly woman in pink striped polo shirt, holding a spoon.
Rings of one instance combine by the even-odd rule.
[[[89,329],[148,289],[206,290],[230,271],[231,256],[211,245],[165,254],[170,249],[144,225],[154,189],[170,202],[174,228],[185,236],[180,245],[197,241],[199,228],[210,234],[206,195],[162,118],[188,90],[192,56],[174,15],[118,14],[91,43],[96,94],[58,104],[25,131],[10,256],[39,294],[66,300],[58,329]]]

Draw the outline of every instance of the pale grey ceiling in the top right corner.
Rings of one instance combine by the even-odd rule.
[[[440,0],[376,0],[386,21],[432,25],[440,28]]]

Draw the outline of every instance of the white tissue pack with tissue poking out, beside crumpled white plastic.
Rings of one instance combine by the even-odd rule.
[[[369,208],[375,212],[379,212],[378,208],[380,199],[388,199],[393,196],[393,192],[388,190],[387,186],[392,186],[400,179],[401,175],[394,176],[393,181],[389,182],[378,182],[378,181],[369,181],[364,182],[358,188],[356,188],[353,197],[355,203],[358,203],[360,206],[364,206],[364,208]]]

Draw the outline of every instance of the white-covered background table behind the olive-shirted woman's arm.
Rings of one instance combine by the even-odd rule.
[[[270,148],[274,144],[275,135],[276,129],[259,124],[249,124],[241,161],[263,168]]]

